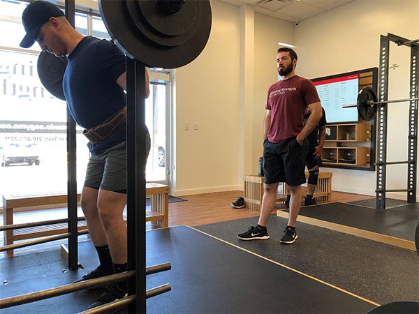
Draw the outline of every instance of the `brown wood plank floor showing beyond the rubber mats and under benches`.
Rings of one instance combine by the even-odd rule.
[[[226,220],[235,220],[247,217],[258,217],[259,212],[251,209],[233,209],[230,204],[234,202],[237,197],[243,195],[242,191],[228,191],[218,193],[206,193],[198,195],[182,196],[186,202],[172,202],[169,204],[169,227],[177,225],[206,225],[209,223],[218,223]],[[353,202],[355,200],[365,200],[374,198],[370,195],[358,195],[351,193],[332,192],[332,202]],[[321,202],[319,202],[321,203]],[[272,214],[276,214],[277,209],[284,208],[284,205],[278,203]],[[66,218],[67,209],[42,209],[36,211],[20,211],[14,215],[14,223],[29,223],[34,221],[43,221],[50,219]],[[82,216],[82,211],[79,209],[78,216]],[[0,225],[3,222],[0,221]],[[151,223],[147,223],[147,230],[156,229]],[[4,245],[3,233],[0,232],[0,244]],[[82,236],[86,237],[86,236]],[[65,240],[64,240],[65,241]],[[36,251],[39,246],[48,248],[49,246],[57,246],[57,242],[50,242],[49,244],[41,244],[28,248],[20,248],[15,251],[15,254],[29,253]],[[5,256],[5,253],[0,253],[0,258]]]

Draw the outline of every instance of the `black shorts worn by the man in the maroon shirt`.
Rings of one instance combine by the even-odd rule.
[[[263,172],[265,184],[286,182],[288,186],[300,186],[306,183],[305,158],[309,141],[300,145],[295,137],[279,143],[269,140],[263,142]]]

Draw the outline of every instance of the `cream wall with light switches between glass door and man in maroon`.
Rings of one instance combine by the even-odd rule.
[[[255,14],[253,6],[211,6],[207,46],[175,71],[173,195],[240,190],[243,174],[257,173],[278,41],[294,41],[291,22]]]

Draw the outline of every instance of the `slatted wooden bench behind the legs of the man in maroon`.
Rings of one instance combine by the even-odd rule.
[[[308,179],[309,172],[306,171],[305,174],[306,179]],[[332,172],[319,172],[318,184],[313,195],[317,200],[330,201],[330,195],[332,195],[332,176]],[[262,208],[264,179],[264,177],[260,177],[258,174],[244,176],[244,207],[253,209],[254,211],[260,211]],[[285,202],[286,184],[279,184],[280,189],[281,193],[277,195],[277,202]],[[302,198],[304,198],[304,195],[302,195]]]

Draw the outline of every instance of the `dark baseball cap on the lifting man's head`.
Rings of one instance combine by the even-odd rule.
[[[38,36],[41,26],[50,20],[50,17],[65,16],[54,4],[47,1],[34,1],[24,9],[22,13],[22,23],[27,34],[19,44],[20,47],[29,48],[34,45],[35,38]]]

